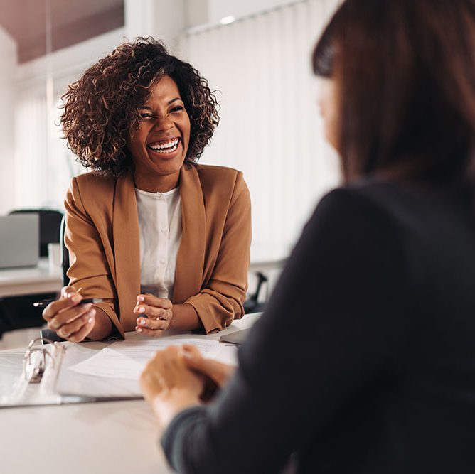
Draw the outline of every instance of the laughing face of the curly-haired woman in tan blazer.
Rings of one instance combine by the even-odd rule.
[[[127,141],[136,175],[178,173],[188,151],[191,125],[176,82],[162,77],[138,112],[139,129]]]

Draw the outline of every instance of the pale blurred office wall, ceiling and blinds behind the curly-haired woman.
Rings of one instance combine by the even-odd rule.
[[[202,163],[244,172],[255,252],[285,254],[338,183],[309,56],[339,0],[0,0],[0,214],[61,210],[85,171],[60,139],[60,96],[124,38],[161,38],[217,90]]]

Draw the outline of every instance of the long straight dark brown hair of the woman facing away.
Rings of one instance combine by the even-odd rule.
[[[339,97],[343,175],[473,187],[474,0],[346,0],[314,48]]]

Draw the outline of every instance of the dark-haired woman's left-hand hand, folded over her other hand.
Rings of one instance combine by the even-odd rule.
[[[199,404],[203,382],[188,370],[180,348],[171,346],[156,352],[140,376],[147,402],[162,428],[181,410]]]

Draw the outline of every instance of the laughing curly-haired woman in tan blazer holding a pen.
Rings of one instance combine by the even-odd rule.
[[[43,311],[67,340],[206,333],[243,314],[250,196],[196,164],[218,124],[206,79],[153,38],[119,45],[68,87],[68,146],[90,168],[65,199],[70,286]],[[102,302],[81,305],[82,298]]]

